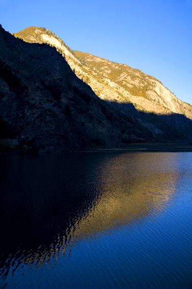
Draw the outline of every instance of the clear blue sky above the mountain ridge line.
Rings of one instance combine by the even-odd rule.
[[[156,77],[192,104],[192,0],[0,0],[6,31],[45,27],[71,49]]]

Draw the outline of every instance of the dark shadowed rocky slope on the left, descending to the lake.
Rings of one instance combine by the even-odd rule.
[[[0,27],[1,150],[69,152],[152,140],[75,75],[54,47],[26,43]]]

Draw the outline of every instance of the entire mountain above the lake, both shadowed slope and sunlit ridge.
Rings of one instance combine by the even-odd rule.
[[[110,67],[114,65],[120,72],[113,76]],[[155,96],[156,107],[161,109],[158,114],[144,110],[145,101],[151,101],[149,107],[155,101],[147,98],[148,89],[144,97],[124,88],[123,67],[138,73],[133,78],[135,88],[141,87],[139,75],[149,84],[151,79],[158,82],[125,65],[74,52],[44,28],[31,27],[11,35],[0,27],[0,150],[69,152],[129,143],[192,141],[192,122],[181,114],[182,108],[189,114],[191,106],[158,82],[158,89],[168,91],[170,98]],[[140,98],[143,111],[136,104]]]

